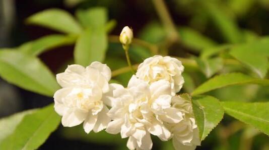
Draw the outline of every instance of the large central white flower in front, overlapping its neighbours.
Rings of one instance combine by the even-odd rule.
[[[113,105],[108,112],[111,121],[106,131],[111,134],[120,132],[121,137],[129,137],[129,149],[151,149],[150,134],[161,140],[171,136],[164,122],[178,123],[182,113],[171,108],[171,85],[160,80],[148,85],[145,81],[132,76],[127,88],[113,90]]]

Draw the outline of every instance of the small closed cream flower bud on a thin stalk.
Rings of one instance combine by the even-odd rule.
[[[119,41],[122,43],[124,49],[131,43],[132,37],[132,30],[128,26],[125,26],[119,36]]]

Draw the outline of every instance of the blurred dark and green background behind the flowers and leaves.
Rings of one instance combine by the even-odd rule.
[[[26,24],[27,17],[42,10],[59,8],[74,15],[79,9],[104,7],[109,20],[116,21],[111,35],[119,35],[121,29],[127,25],[133,29],[134,37],[157,44],[164,51],[163,54],[169,52],[167,55],[191,58],[190,62],[185,62],[186,83],[182,92],[192,92],[196,86],[216,73],[240,71],[255,77],[260,74],[268,77],[267,68],[265,72],[261,69],[260,74],[255,74],[239,62],[231,60],[231,56],[222,53],[231,45],[251,43],[269,35],[268,0],[170,0],[165,3],[176,27],[174,34],[177,34],[180,42],[166,41],[168,34],[152,1],[0,0],[0,48],[19,46],[26,41],[57,33]],[[58,73],[67,64],[73,63],[73,51],[74,45],[61,46],[41,54],[40,58],[53,73]],[[150,56],[151,53],[145,47],[132,46],[130,49],[133,64],[141,63]],[[255,55],[253,59],[256,59]],[[112,70],[127,66],[120,44],[109,43],[105,63]],[[127,72],[116,76],[114,80],[126,85],[130,76],[131,73]],[[209,94],[221,101],[264,102],[269,99],[269,88],[236,85],[217,89]],[[52,102],[52,98],[0,81],[0,117],[43,107]],[[173,149],[169,141],[159,142],[155,137],[153,140],[153,149]],[[126,139],[122,140],[119,135],[110,135],[104,131],[87,135],[81,126],[60,126],[39,149],[127,149],[125,144]],[[267,150],[269,137],[253,127],[224,116],[221,124],[197,149]]]

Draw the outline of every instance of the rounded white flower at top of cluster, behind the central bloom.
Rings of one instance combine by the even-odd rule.
[[[159,80],[169,81],[172,89],[171,95],[175,95],[184,83],[181,75],[183,71],[184,67],[179,60],[157,55],[147,58],[140,64],[136,76],[149,84]]]

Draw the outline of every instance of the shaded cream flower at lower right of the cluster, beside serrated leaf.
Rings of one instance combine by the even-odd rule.
[[[194,150],[200,145],[200,139],[190,99],[174,96],[172,105],[184,114],[184,119],[179,123],[167,125],[173,134],[173,145],[176,150]]]

